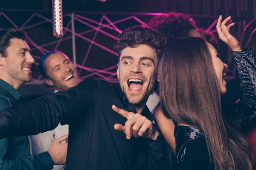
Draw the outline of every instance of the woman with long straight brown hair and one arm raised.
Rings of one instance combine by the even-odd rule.
[[[233,51],[242,82],[243,104],[255,114],[254,59],[251,51],[242,51],[239,41],[230,34],[229,28],[234,25],[231,17],[222,23],[221,20],[222,17],[217,23],[219,38]],[[250,145],[221,113],[220,96],[227,91],[223,79],[226,69],[215,48],[198,37],[176,40],[160,61],[163,112],[158,108],[154,118],[176,153],[180,170],[252,169]]]

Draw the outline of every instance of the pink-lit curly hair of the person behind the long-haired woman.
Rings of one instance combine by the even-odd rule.
[[[186,14],[169,12],[151,18],[148,26],[155,28],[166,36],[167,43],[173,42],[180,37],[190,37],[189,31],[195,29]]]

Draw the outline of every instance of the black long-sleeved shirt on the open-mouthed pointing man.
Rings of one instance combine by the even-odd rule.
[[[114,129],[116,123],[125,125],[126,119],[112,105],[136,113],[119,85],[113,88],[106,81],[86,79],[67,92],[1,112],[0,137],[35,135],[55,129],[60,122],[69,125],[67,170],[162,170],[165,145],[126,139],[125,133]],[[147,107],[142,114],[152,120]]]

